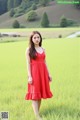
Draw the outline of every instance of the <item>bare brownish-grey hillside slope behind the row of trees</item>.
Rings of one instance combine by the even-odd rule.
[[[68,19],[72,19],[80,23],[80,10],[75,9],[73,5],[61,5],[55,2],[51,2],[51,4],[47,7],[40,7],[35,10],[39,16],[39,20],[35,22],[28,22],[26,20],[26,14],[17,17],[10,18],[9,12],[0,16],[0,28],[11,28],[12,23],[15,19],[17,19],[21,25],[25,27],[40,27],[40,20],[44,12],[47,13],[50,24],[59,24],[61,16],[65,16]]]

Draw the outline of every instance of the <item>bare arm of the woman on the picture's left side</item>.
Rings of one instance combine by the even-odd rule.
[[[26,50],[26,62],[27,62],[27,71],[28,71],[28,83],[32,84],[29,48],[27,48],[27,50]]]

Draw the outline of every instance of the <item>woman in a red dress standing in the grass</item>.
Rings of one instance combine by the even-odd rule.
[[[39,120],[42,120],[39,115],[41,99],[51,98],[53,95],[49,86],[49,81],[52,81],[52,78],[46,65],[45,50],[42,48],[42,36],[38,31],[33,31],[30,36],[29,48],[26,50],[26,60],[28,92],[25,99],[32,100],[34,113]]]

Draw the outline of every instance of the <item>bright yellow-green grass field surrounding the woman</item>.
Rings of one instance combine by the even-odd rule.
[[[0,44],[0,112],[10,120],[35,120],[26,101],[28,41]],[[53,81],[53,98],[42,100],[43,120],[80,120],[80,39],[46,39],[46,60]]]

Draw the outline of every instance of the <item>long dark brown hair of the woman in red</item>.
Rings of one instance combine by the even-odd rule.
[[[30,36],[30,40],[29,40],[29,56],[30,58],[32,59],[36,59],[36,50],[35,50],[35,46],[34,46],[34,43],[32,41],[32,38],[35,34],[38,34],[40,36],[40,43],[39,43],[39,46],[42,45],[42,36],[41,34],[38,32],[38,31],[33,31],[31,36]]]

